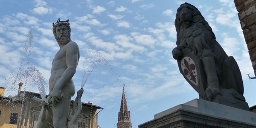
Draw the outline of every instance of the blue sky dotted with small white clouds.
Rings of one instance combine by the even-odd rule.
[[[87,78],[82,102],[104,108],[98,124],[116,128],[125,84],[136,128],[156,113],[198,98],[172,58],[175,14],[184,2],[201,11],[218,43],[234,56],[244,97],[249,106],[256,105],[255,80],[246,75],[254,76],[253,68],[233,0],[0,0],[1,86],[6,87],[6,96],[17,94],[20,81],[22,90],[40,92],[38,80],[44,79],[48,93],[51,62],[59,49],[52,22],[70,19],[71,39],[81,52],[73,77],[76,90]],[[30,30],[33,38],[27,41]],[[83,73],[87,75],[82,77]]]

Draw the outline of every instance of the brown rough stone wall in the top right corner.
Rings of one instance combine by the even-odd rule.
[[[256,76],[256,0],[234,0]]]

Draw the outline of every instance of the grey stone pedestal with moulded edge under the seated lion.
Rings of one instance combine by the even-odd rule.
[[[194,99],[154,115],[139,128],[256,128],[256,113]]]

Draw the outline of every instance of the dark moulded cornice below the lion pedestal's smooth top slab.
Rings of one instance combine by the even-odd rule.
[[[255,125],[246,124],[243,122],[236,122],[228,119],[216,118],[200,113],[193,113],[183,109],[178,109],[173,113],[162,116],[139,125],[139,128],[255,128]]]

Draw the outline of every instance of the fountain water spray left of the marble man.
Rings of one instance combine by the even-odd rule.
[[[31,54],[31,49],[32,49],[32,39],[33,39],[33,33],[32,30],[29,30],[28,35],[27,35],[27,40],[24,42],[24,47],[23,47],[23,52],[22,52],[22,57],[20,59],[20,65],[18,71],[12,72],[12,75],[9,76],[6,79],[6,84],[9,85],[7,87],[10,87],[12,92],[16,92],[17,90],[17,82],[23,82],[23,90],[24,94],[22,96],[22,106],[21,106],[21,112],[20,112],[20,123],[18,125],[18,128],[21,127],[22,121],[21,119],[23,118],[23,102],[25,99],[25,90],[27,90],[27,85],[35,85],[39,89],[39,93],[41,94],[42,100],[45,101],[45,87],[47,85],[44,77],[42,74],[37,70],[34,66],[29,65],[29,59],[30,59],[30,54]],[[21,86],[21,84],[19,84]],[[20,92],[21,88],[19,89]]]

